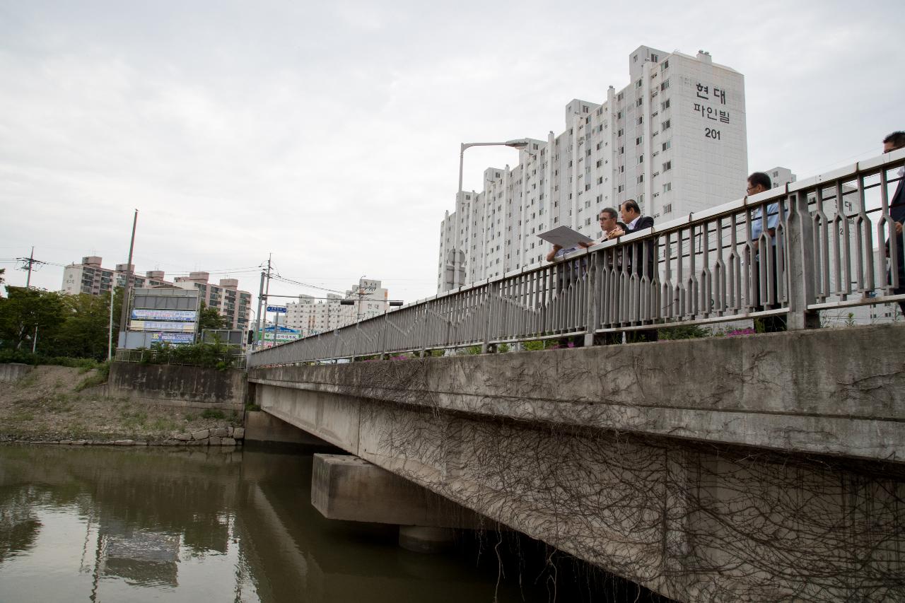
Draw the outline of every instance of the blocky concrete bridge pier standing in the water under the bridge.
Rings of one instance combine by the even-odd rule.
[[[394,523],[399,546],[415,552],[448,549],[454,530],[487,520],[476,512],[355,455],[314,455],[311,504],[328,519]]]

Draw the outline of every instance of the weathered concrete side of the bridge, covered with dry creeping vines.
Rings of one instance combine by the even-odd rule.
[[[250,378],[271,415],[668,597],[900,600],[903,334],[820,330]]]

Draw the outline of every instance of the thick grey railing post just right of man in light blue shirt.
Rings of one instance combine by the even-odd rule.
[[[788,218],[789,311],[788,330],[820,327],[820,316],[807,306],[814,303],[814,224],[807,210],[805,190],[795,192],[793,211]]]

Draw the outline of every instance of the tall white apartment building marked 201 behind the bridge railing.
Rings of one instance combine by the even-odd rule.
[[[537,235],[557,225],[599,237],[597,213],[626,199],[667,221],[744,195],[744,76],[709,53],[641,46],[629,77],[602,103],[570,101],[561,134],[531,139],[515,168],[488,168],[480,193],[458,196],[441,224],[438,292],[540,262]]]

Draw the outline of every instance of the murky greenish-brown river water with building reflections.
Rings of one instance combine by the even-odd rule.
[[[570,594],[575,580],[531,567],[520,537],[424,555],[399,548],[394,526],[324,519],[310,504],[311,459],[0,446],[0,601],[634,599],[613,598],[613,582],[595,597],[588,578]]]

